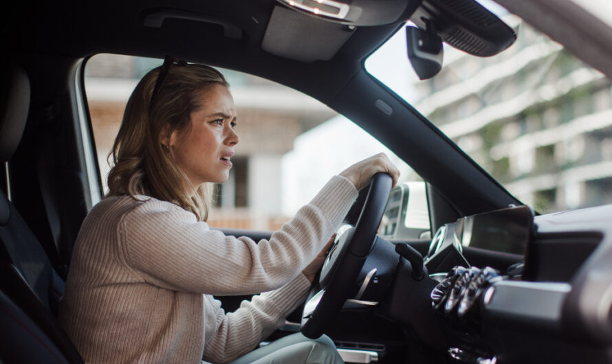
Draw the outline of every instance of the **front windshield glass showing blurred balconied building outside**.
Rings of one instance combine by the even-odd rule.
[[[419,81],[400,29],[366,69],[536,211],[612,203],[612,82],[499,5],[490,10],[517,34],[501,54],[445,44],[441,71]]]

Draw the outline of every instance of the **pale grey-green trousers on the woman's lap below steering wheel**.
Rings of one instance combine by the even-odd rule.
[[[323,335],[311,340],[292,334],[253,350],[228,364],[341,364],[334,341]]]

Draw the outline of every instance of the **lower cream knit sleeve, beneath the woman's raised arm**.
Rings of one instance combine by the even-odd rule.
[[[253,296],[243,301],[234,312],[226,315],[221,303],[205,297],[205,310],[211,325],[206,324],[205,361],[225,363],[250,350],[274,330],[281,327],[285,317],[304,301],[310,282],[302,274],[275,291]],[[208,320],[207,320],[208,321]]]

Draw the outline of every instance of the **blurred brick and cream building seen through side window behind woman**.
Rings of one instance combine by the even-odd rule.
[[[87,62],[85,89],[98,150],[103,183],[107,157],[119,130],[125,104],[136,83],[161,60],[111,54]],[[230,82],[241,135],[230,179],[217,185],[213,227],[278,229],[288,220],[282,214],[281,158],[306,130],[334,117],[324,104],[282,85],[230,70]]]

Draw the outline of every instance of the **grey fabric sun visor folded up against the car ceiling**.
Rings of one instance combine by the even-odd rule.
[[[301,62],[330,60],[354,29],[276,5],[261,48],[275,56]]]

